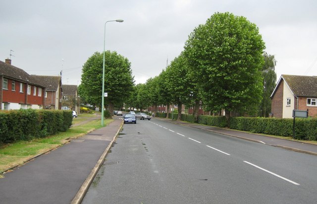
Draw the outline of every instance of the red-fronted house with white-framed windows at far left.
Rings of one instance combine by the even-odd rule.
[[[23,69],[11,65],[11,60],[0,61],[0,110],[42,109],[45,86]]]

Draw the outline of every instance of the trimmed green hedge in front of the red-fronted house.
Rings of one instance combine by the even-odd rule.
[[[72,123],[72,111],[20,109],[0,112],[0,142],[65,132]]]

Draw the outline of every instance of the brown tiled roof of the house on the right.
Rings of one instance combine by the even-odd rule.
[[[314,96],[317,97],[317,76],[300,76],[282,74],[271,95],[274,95],[282,79],[286,82],[289,89],[295,96]]]

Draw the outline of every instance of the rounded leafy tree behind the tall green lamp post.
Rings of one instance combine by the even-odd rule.
[[[122,104],[133,89],[134,77],[127,58],[116,52],[105,53],[105,104],[113,113],[114,104]],[[82,94],[88,103],[99,105],[102,102],[103,53],[96,52],[84,64],[81,76]]]

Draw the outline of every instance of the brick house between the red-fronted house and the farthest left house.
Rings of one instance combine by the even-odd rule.
[[[45,108],[61,110],[61,76],[31,75],[31,77],[34,80],[39,81],[42,86],[46,87]]]

